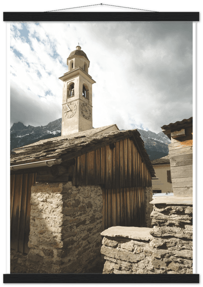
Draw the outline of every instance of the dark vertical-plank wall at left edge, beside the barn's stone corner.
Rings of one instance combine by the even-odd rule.
[[[11,248],[22,253],[29,251],[30,197],[35,179],[36,173],[11,174],[10,177]]]

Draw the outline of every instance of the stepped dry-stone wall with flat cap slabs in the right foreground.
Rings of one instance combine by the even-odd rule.
[[[153,228],[102,232],[103,274],[192,274],[192,199],[167,198],[152,201]]]

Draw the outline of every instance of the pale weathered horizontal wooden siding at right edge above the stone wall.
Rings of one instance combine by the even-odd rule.
[[[171,180],[175,196],[192,196],[192,140],[169,144]]]

